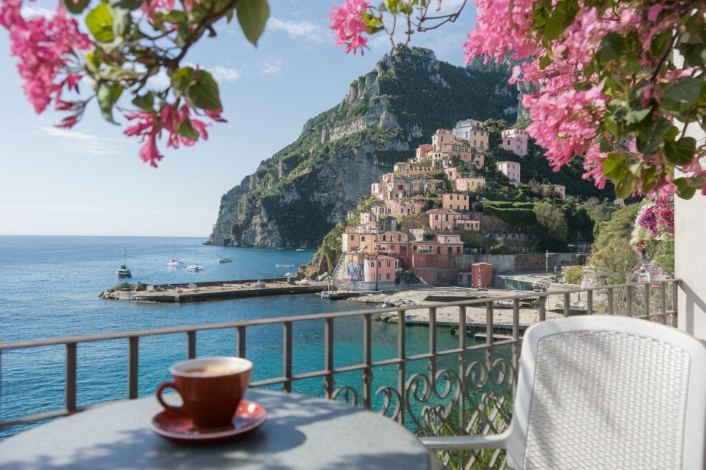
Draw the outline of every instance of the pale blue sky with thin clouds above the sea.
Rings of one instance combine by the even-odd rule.
[[[0,235],[207,237],[222,194],[296,140],[307,119],[338,104],[390,51],[383,35],[371,38],[364,56],[335,46],[328,14],[342,0],[269,1],[258,47],[234,20],[189,51],[186,62],[219,82],[228,122],[210,127],[206,142],[165,150],[159,168],[143,163],[138,140],[103,120],[97,106],[72,130],[54,127],[58,113],[37,116],[0,28]],[[445,8],[461,3],[444,1]],[[32,2],[40,12],[55,5]],[[469,1],[457,23],[416,34],[412,45],[462,65],[474,14]]]

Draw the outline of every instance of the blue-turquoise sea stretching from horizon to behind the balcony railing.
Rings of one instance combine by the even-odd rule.
[[[257,249],[201,245],[195,237],[79,237],[0,235],[0,342],[58,338],[73,335],[146,330],[301,316],[374,308],[376,305],[321,299],[315,295],[251,297],[187,304],[148,304],[100,299],[98,294],[122,280],[116,271],[126,264],[131,283],[198,284],[213,280],[275,278],[296,271],[311,260],[313,250]],[[184,265],[167,266],[172,256]],[[232,263],[220,264],[218,256]],[[203,271],[186,270],[199,264]],[[277,265],[294,265],[281,267]],[[429,350],[429,328],[407,327],[407,354]],[[373,361],[397,357],[397,326],[373,322]],[[360,364],[363,359],[363,319],[334,322],[336,367]],[[437,349],[457,347],[448,328],[438,328]],[[292,330],[293,373],[324,367],[324,322],[295,322]],[[107,340],[78,345],[77,404],[84,407],[127,395],[127,340]],[[234,329],[199,332],[197,357],[236,354]],[[185,359],[186,335],[140,338],[138,394],[153,395],[157,385],[169,380],[169,366]],[[247,329],[246,357],[253,361],[252,380],[282,375],[282,326]],[[37,347],[4,351],[0,357],[0,421],[60,409],[64,404],[66,348]],[[441,359],[453,367],[456,356]],[[407,373],[426,373],[427,361],[410,363]],[[337,386],[360,391],[362,372],[337,373]],[[373,391],[397,383],[395,366],[373,369]],[[279,386],[281,388],[281,385]],[[273,388],[278,388],[277,386]],[[294,392],[323,395],[323,378],[294,382]],[[383,395],[376,395],[381,407]],[[7,438],[37,424],[0,431]]]

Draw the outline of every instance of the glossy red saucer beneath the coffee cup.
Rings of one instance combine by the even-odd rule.
[[[267,419],[261,404],[241,400],[233,421],[219,428],[197,428],[189,416],[164,410],[152,418],[152,431],[180,444],[214,444],[242,438],[255,431]]]

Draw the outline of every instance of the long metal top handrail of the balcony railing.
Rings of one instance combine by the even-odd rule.
[[[616,289],[621,287],[637,287],[644,285],[654,285],[654,284],[665,284],[671,283],[678,285],[681,283],[681,279],[669,279],[669,280],[650,280],[650,281],[640,281],[638,283],[626,283],[626,284],[615,284],[615,285],[599,285],[590,287],[579,287],[576,289],[566,289],[566,290],[551,290],[547,292],[527,292],[527,294],[515,294],[503,297],[483,297],[481,299],[464,299],[457,302],[429,302],[424,304],[407,304],[400,305],[398,307],[388,307],[383,309],[365,309],[365,310],[352,310],[352,311],[341,311],[325,314],[310,314],[310,315],[300,315],[300,316],[280,316],[271,319],[256,319],[256,320],[244,320],[244,321],[230,321],[227,323],[212,323],[206,325],[187,325],[187,326],[172,326],[167,328],[152,328],[150,330],[128,330],[128,331],[117,331],[114,333],[101,333],[96,335],[77,335],[77,336],[64,336],[60,338],[46,338],[42,340],[25,340],[25,341],[15,341],[15,342],[0,342],[0,351],[2,350],[16,350],[28,347],[42,347],[42,346],[52,346],[52,345],[66,345],[66,344],[76,344],[79,342],[94,342],[103,340],[121,340],[126,338],[143,337],[143,336],[155,336],[155,335],[170,335],[176,333],[189,333],[204,330],[220,330],[223,328],[238,328],[243,326],[261,326],[270,325],[273,323],[284,323],[284,322],[294,322],[294,321],[309,321],[309,320],[321,320],[321,319],[335,319],[347,316],[360,316],[360,315],[374,315],[383,314],[391,311],[407,311],[416,309],[429,309],[438,307],[460,307],[460,306],[472,306],[478,304],[485,304],[486,302],[501,302],[505,300],[514,299],[526,299],[534,297],[549,297],[550,295],[570,295],[577,292],[594,292],[596,290],[606,290],[606,289]],[[470,292],[482,292],[482,291],[470,291]]]

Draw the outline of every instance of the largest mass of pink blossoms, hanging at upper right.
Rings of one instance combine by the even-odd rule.
[[[657,32],[678,20],[678,13],[673,7],[662,4],[638,10],[618,3],[614,10],[599,17],[596,8],[582,6],[563,35],[551,42],[552,60],[542,69],[539,60],[547,51],[533,27],[532,16],[538,1],[475,0],[477,26],[464,44],[466,62],[477,56],[484,56],[486,63],[490,59],[502,62],[508,54],[517,60],[530,59],[521,66],[515,66],[510,77],[510,83],[541,85],[538,92],[527,94],[522,100],[533,120],[527,131],[546,149],[554,171],[574,156],[585,156],[584,178],[593,178],[598,187],[604,187],[603,163],[608,154],[599,151],[596,142],[600,137],[597,130],[604,118],[609,97],[603,93],[596,75],[588,80],[586,91],[577,91],[573,85],[586,80],[585,70],[592,61],[594,51],[610,32],[618,32],[622,36],[637,32],[645,52],[640,64],[654,66],[654,59],[647,54],[650,41]],[[643,104],[649,103],[650,98],[659,92],[659,87],[645,87]],[[632,147],[630,150],[635,159],[660,168],[659,155],[642,155],[634,144]],[[698,159],[680,169],[690,175],[706,176]],[[659,194],[670,195],[675,191],[676,186],[669,176],[659,178]],[[702,194],[706,194],[706,186]]]

